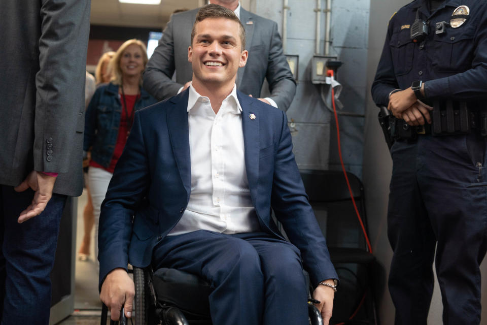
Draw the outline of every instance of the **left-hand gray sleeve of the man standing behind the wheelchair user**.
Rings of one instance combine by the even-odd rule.
[[[175,71],[173,21],[167,23],[166,29],[159,40],[144,72],[144,88],[158,101],[162,101],[178,93],[182,84],[171,80]]]

